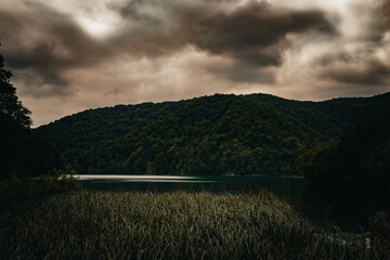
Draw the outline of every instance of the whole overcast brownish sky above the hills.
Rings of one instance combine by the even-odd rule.
[[[0,0],[0,42],[35,127],[214,93],[390,91],[390,0]]]

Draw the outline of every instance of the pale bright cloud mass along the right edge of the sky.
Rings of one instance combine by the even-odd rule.
[[[317,81],[332,82],[339,89],[389,89],[390,83],[390,1],[358,2],[351,5],[354,32],[330,43],[330,50],[312,62]],[[347,87],[347,91],[351,91]]]

